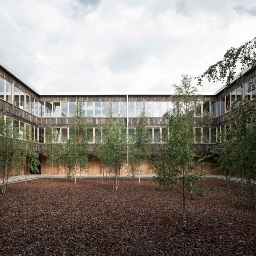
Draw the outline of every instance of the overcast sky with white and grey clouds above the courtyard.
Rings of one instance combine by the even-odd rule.
[[[0,61],[40,92],[171,93],[255,27],[255,0],[0,0]]]

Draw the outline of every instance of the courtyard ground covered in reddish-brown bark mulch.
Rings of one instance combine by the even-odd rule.
[[[0,195],[0,255],[255,255],[256,213],[236,183],[203,180],[187,200],[152,179],[11,184]]]

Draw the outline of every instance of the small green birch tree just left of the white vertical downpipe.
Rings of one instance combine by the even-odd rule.
[[[127,154],[127,134],[123,118],[108,117],[103,123],[104,142],[96,141],[96,155],[103,168],[114,175],[114,188],[117,190],[120,171]]]

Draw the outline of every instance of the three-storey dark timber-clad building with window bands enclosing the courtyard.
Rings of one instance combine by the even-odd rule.
[[[225,115],[235,101],[254,100],[256,90],[250,90],[250,81],[255,83],[256,69],[247,68],[242,72],[245,75],[243,84],[239,83],[238,76],[231,85],[221,87],[213,95],[203,95],[201,109],[196,116],[201,117],[204,112],[212,113],[203,127],[195,127],[195,143],[199,151],[209,154],[209,149],[214,145],[218,131],[225,129]],[[56,143],[65,143],[69,138],[69,126],[77,100],[83,102],[86,116],[90,117],[93,124],[89,131],[91,135],[91,155],[89,174],[100,174],[100,162],[93,155],[93,143],[95,138],[102,136],[99,124],[108,116],[111,109],[115,117],[128,116],[126,118],[127,129],[132,130],[138,121],[142,109],[145,109],[148,117],[148,129],[152,143],[164,143],[162,131],[165,129],[165,119],[162,115],[172,108],[170,94],[39,94],[32,86],[22,82],[3,65],[0,65],[0,111],[4,118],[15,118],[14,127],[22,130],[22,127],[31,125],[32,136],[38,140],[36,149],[40,155],[41,174],[51,173],[51,168],[43,156],[45,144],[45,127],[54,125],[58,131]],[[213,174],[215,165],[206,165],[206,173]],[[143,173],[153,173],[148,163],[142,166]],[[123,170],[125,172],[125,170]],[[54,174],[61,174],[63,170],[54,169]]]

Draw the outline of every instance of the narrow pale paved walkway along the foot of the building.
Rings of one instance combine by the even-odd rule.
[[[35,180],[35,179],[51,179],[53,177],[53,179],[64,179],[65,175],[64,174],[29,174],[27,175],[27,181],[29,180]],[[155,175],[154,174],[143,174],[140,175],[141,179],[151,179],[154,178]],[[79,175],[77,175],[76,177],[77,179],[80,178]],[[100,179],[102,178],[100,174],[82,174],[81,175],[82,179],[92,179],[92,178],[97,178]],[[110,177],[111,178],[111,177]],[[121,174],[120,178],[127,178],[126,174]],[[128,177],[131,178],[131,177]],[[136,177],[138,179],[138,175]],[[221,179],[221,180],[226,180],[226,177],[224,175],[204,175],[202,177],[203,179]],[[73,177],[74,179],[74,177]],[[25,175],[21,175],[21,176],[12,176],[9,178],[8,183],[16,183],[16,182],[21,182],[21,181],[25,181]],[[230,181],[238,181],[238,179],[236,177],[232,177],[230,178]]]

